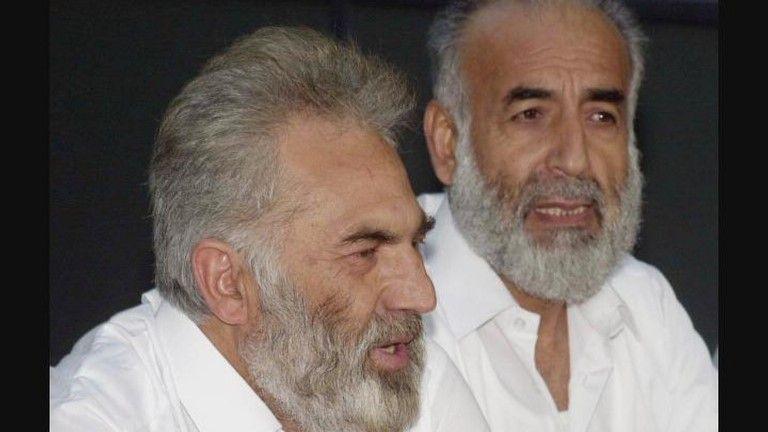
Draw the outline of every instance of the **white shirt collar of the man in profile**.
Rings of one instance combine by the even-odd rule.
[[[154,303],[158,336],[168,355],[176,391],[201,432],[282,430],[269,408],[197,325],[155,291],[145,297],[143,300]]]

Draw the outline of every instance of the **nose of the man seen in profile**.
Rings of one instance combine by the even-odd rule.
[[[417,250],[411,249],[397,260],[381,300],[383,308],[390,313],[413,311],[425,314],[435,309],[435,288]]]

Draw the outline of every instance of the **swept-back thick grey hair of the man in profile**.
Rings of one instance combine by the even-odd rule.
[[[243,253],[257,282],[276,271],[290,213],[276,143],[291,116],[352,119],[396,147],[413,104],[391,66],[308,28],[262,28],[212,58],[166,110],[150,162],[161,295],[208,315],[191,262],[206,238]]]

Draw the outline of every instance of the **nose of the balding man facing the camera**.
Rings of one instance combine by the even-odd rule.
[[[564,113],[552,131],[547,168],[558,176],[582,177],[589,170],[589,148],[577,113]]]

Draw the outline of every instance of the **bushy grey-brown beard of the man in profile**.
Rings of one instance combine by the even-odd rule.
[[[331,299],[309,312],[287,281],[262,285],[262,331],[239,351],[256,388],[304,432],[403,431],[419,412],[423,368],[417,314],[374,316],[361,335],[344,328],[348,299]],[[375,370],[368,352],[394,336],[416,335],[403,371]]]

